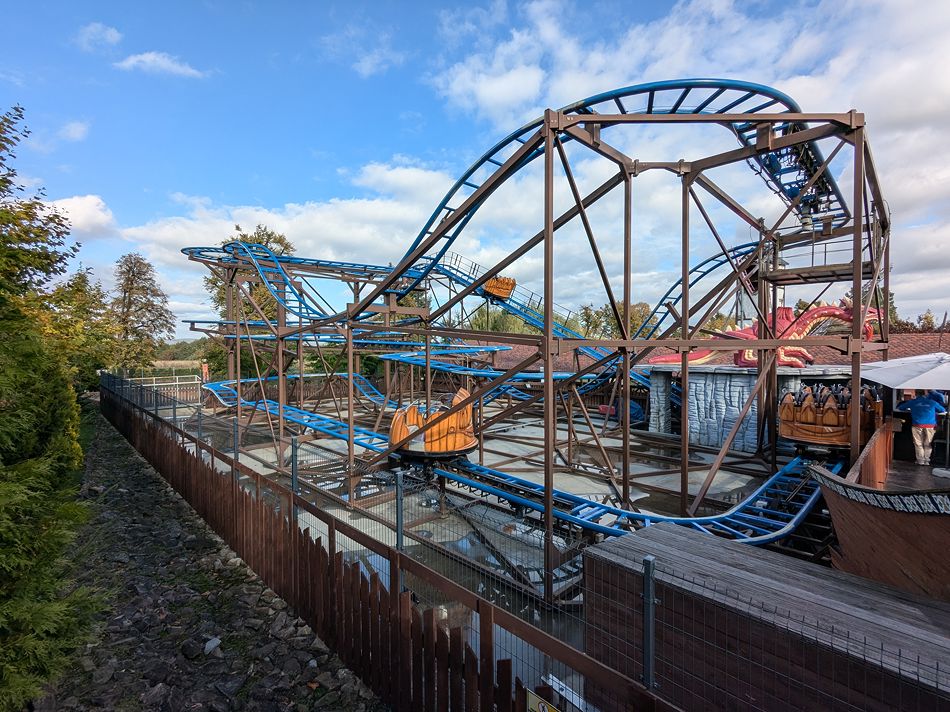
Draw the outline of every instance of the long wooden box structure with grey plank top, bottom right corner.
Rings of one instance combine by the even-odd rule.
[[[640,590],[647,555],[656,557],[657,638],[679,641],[660,645],[661,658],[672,657],[658,661],[657,669],[676,679],[661,681],[661,689],[688,690],[678,700],[689,702],[686,708],[699,708],[713,678],[729,689],[755,683],[749,689],[766,693],[775,687],[771,693],[784,701],[773,700],[768,709],[818,709],[795,700],[806,687],[816,693],[812,702],[857,703],[847,709],[950,704],[950,604],[686,527],[659,524],[585,550],[585,600],[595,604],[589,625],[640,639],[638,599],[631,597],[621,620],[610,618],[617,613],[610,606],[597,613],[596,603],[598,595],[616,600],[617,589]],[[602,657],[602,641],[592,631],[588,640],[588,652]],[[689,655],[704,661],[709,675],[684,671]],[[755,680],[742,679],[743,671]],[[891,705],[895,692],[905,697]],[[920,704],[907,706],[910,701]],[[721,708],[709,698],[701,706]]]

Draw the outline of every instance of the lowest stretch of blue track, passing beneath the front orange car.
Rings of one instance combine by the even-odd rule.
[[[221,381],[207,383],[203,388],[222,405],[234,407],[238,404],[238,394],[233,385],[234,381]],[[250,401],[242,398],[241,405],[263,410],[274,417],[281,414],[279,404],[272,400]],[[346,423],[302,408],[284,406],[283,417],[288,422],[329,437],[344,441],[349,437]],[[372,452],[383,452],[389,446],[389,439],[368,428],[354,426],[353,444]],[[557,489],[553,492],[554,516],[564,524],[606,536],[626,534],[629,527],[641,528],[660,522],[673,522],[748,544],[768,544],[784,539],[793,532],[821,497],[821,489],[808,476],[806,465],[805,459],[794,458],[745,500],[727,512],[713,516],[671,517],[629,512]],[[544,487],[537,482],[477,465],[464,458],[453,461],[452,467],[453,470],[436,468],[435,473],[458,485],[494,495],[514,505],[537,512],[544,511],[544,505],[539,501],[543,499]],[[841,463],[829,464],[827,468],[837,473]]]

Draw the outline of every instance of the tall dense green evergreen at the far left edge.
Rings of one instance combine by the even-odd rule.
[[[41,289],[76,248],[66,220],[16,182],[22,119],[20,107],[0,115],[0,710],[23,709],[62,671],[88,635],[91,600],[63,560],[84,512],[73,490],[79,409],[63,354],[41,331]]]

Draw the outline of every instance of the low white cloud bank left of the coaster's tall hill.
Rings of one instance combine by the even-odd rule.
[[[235,224],[253,229],[260,223],[284,233],[303,256],[387,264],[402,256],[452,179],[397,157],[390,163],[364,166],[352,182],[366,195],[272,208],[222,205],[178,193],[170,197],[181,206],[181,214],[122,227],[115,225],[98,196],[77,196],[54,204],[69,213],[78,236],[111,235],[115,245],[108,240],[96,244],[109,245],[116,256],[136,250],[149,259],[178,319],[207,319],[214,318],[201,284],[207,272],[181,254],[183,247],[218,245],[234,234]],[[100,277],[108,281],[106,269],[97,273],[101,271]],[[333,299],[332,289],[328,298]],[[342,305],[346,298],[340,299]],[[178,337],[187,336],[194,334],[179,326]]]

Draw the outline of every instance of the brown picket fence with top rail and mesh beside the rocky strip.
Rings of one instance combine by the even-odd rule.
[[[219,419],[199,415],[192,433],[182,426],[200,409],[108,374],[101,385],[109,422],[394,709],[523,710],[528,690],[561,710],[588,709],[590,695],[675,709],[367,533],[352,510],[302,496],[295,476],[288,487],[262,475]]]

